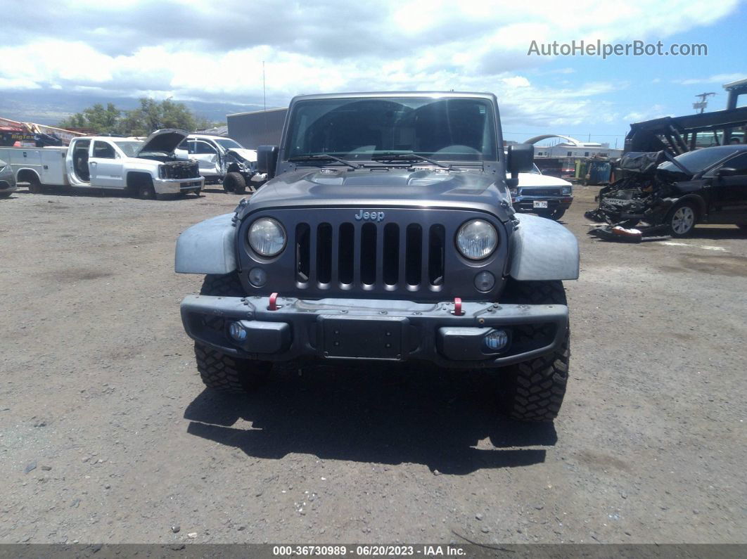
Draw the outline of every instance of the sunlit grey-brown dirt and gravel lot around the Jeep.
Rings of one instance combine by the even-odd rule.
[[[747,542],[747,235],[603,243],[592,196],[565,219],[571,381],[539,427],[500,419],[483,373],[208,393],[174,242],[238,197],[1,200],[0,541]]]

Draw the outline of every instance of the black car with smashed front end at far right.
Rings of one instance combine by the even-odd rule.
[[[620,228],[643,222],[647,234],[673,237],[692,233],[698,223],[747,228],[745,145],[696,149],[677,157],[630,152],[620,169],[624,176],[599,191],[598,208],[586,213],[589,219]]]

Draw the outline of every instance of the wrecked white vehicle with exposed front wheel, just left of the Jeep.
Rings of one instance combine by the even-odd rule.
[[[190,134],[179,144],[177,157],[196,159],[206,181],[223,181],[227,193],[255,192],[266,177],[257,172],[257,151],[225,136]]]

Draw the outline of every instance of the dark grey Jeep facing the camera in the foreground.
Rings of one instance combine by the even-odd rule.
[[[251,390],[287,360],[421,361],[489,369],[512,417],[554,419],[578,245],[514,212],[533,146],[502,144],[489,93],[294,98],[281,145],[258,148],[267,184],[176,243],[176,272],[205,275],[181,306],[205,385]]]

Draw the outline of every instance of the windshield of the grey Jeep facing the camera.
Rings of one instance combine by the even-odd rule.
[[[415,153],[436,160],[498,159],[485,99],[317,99],[294,105],[285,158],[330,154],[371,160]]]

